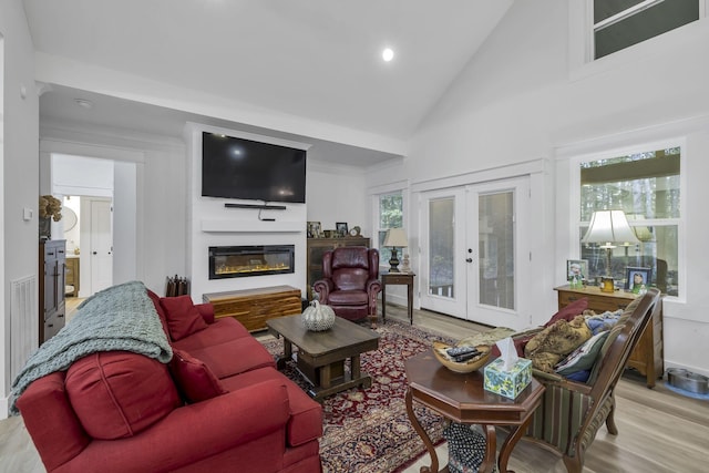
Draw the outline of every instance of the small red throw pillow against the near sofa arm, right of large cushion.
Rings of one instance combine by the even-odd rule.
[[[205,401],[228,392],[209,367],[186,351],[173,349],[169,371],[187,402]]]

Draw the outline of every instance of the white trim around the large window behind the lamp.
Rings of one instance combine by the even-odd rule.
[[[580,240],[580,164],[585,162],[598,161],[604,158],[612,158],[617,156],[626,156],[633,153],[639,153],[650,150],[666,150],[670,147],[680,147],[681,153],[679,156],[679,208],[681,209],[680,217],[678,219],[654,219],[654,223],[672,223],[677,225],[677,261],[679,270],[677,273],[677,282],[679,291],[677,296],[666,296],[667,299],[678,302],[686,302],[687,300],[687,230],[685,223],[687,222],[687,155],[690,150],[687,146],[687,137],[666,138],[661,141],[644,142],[637,141],[633,144],[624,144],[620,147],[604,147],[599,144],[596,151],[586,150],[584,154],[578,154],[569,157],[569,174],[568,182],[573,183],[569,188],[569,208],[568,208],[568,222],[569,230],[572,235],[572,255],[574,258],[578,258],[578,241]]]

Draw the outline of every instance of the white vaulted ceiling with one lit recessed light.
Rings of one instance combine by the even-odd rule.
[[[404,141],[511,4],[512,0],[24,0],[39,52]],[[390,62],[381,58],[387,47],[394,51]],[[73,84],[58,85],[53,99],[41,100],[42,116],[80,120],[75,111],[64,110],[73,105]],[[94,116],[94,123],[135,126],[144,121],[143,130],[168,123],[161,113],[130,103],[120,106],[121,100],[106,103],[110,113]]]

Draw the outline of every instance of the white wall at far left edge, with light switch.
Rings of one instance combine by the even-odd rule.
[[[0,167],[0,418],[3,418],[12,381],[9,368],[10,284],[38,273],[39,105],[32,39],[20,0],[0,2],[0,35],[4,44],[1,81],[4,147]],[[30,220],[23,220],[23,208],[33,212]]]

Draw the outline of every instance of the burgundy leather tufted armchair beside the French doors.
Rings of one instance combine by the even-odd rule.
[[[322,279],[312,286],[321,304],[349,320],[377,313],[379,251],[363,246],[335,248],[322,255]]]

